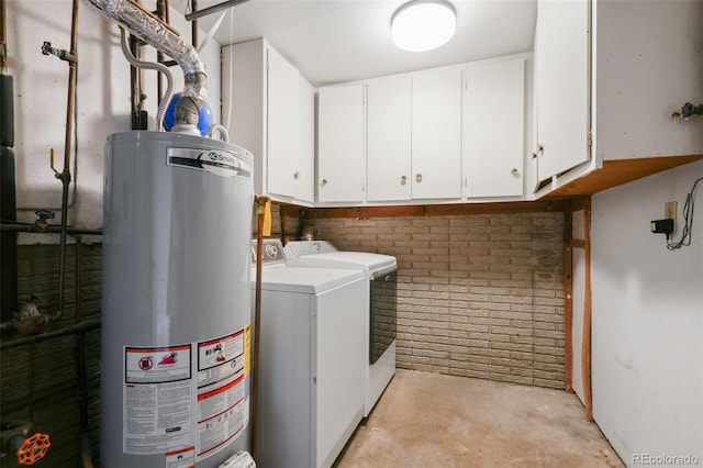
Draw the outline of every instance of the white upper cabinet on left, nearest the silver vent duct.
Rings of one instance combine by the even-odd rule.
[[[266,41],[223,47],[223,120],[254,154],[254,188],[275,200],[312,203],[314,90]]]

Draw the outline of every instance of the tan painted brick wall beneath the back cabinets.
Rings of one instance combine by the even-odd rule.
[[[398,258],[398,367],[563,388],[562,213],[314,223]]]

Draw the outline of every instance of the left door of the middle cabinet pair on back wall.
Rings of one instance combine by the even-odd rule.
[[[411,79],[367,86],[367,180],[369,201],[411,198]]]

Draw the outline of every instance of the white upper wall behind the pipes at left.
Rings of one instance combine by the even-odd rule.
[[[154,10],[155,0],[143,1]],[[14,78],[15,172],[18,218],[33,222],[37,209],[56,212],[60,222],[62,183],[49,168],[49,148],[55,148],[57,170],[63,169],[66,132],[68,65],[55,56],[42,55],[45,41],[56,48],[70,48],[71,1],[7,2],[8,73]],[[191,26],[171,11],[171,25],[187,41]],[[204,34],[201,34],[201,40]],[[155,60],[152,47],[145,59]],[[208,70],[209,103],[220,121],[220,45],[210,42],[201,54]],[[96,9],[79,2],[77,91],[77,190],[69,198],[68,222],[81,227],[102,226],[102,158],[105,137],[130,130],[130,65],[120,48],[118,26]],[[175,90],[182,89],[179,67],[171,68]],[[149,129],[156,129],[156,71],[145,71],[146,110]],[[166,82],[166,81],[164,81]],[[166,86],[166,85],[164,85]],[[71,155],[71,161],[74,156]],[[72,163],[71,163],[72,165]],[[53,242],[52,236],[20,237],[21,243]]]

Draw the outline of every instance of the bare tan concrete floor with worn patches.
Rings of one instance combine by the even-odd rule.
[[[336,466],[624,467],[574,394],[403,369]]]

